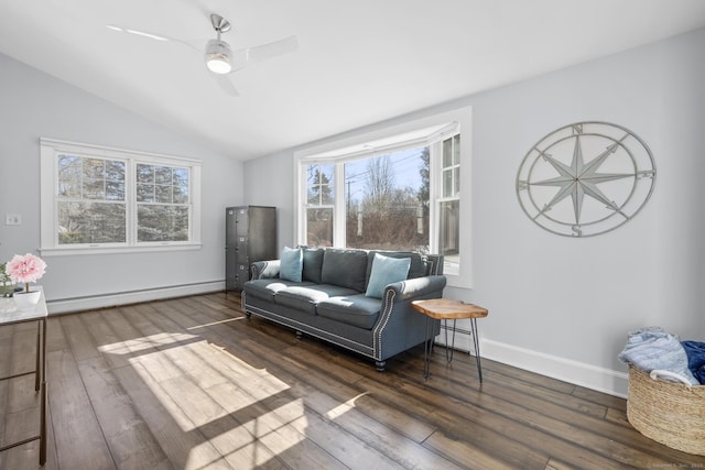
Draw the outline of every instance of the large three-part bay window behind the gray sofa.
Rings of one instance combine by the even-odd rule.
[[[296,241],[441,253],[467,286],[469,113],[435,118],[297,152]]]

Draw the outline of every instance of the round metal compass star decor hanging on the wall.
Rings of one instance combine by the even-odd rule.
[[[651,151],[637,134],[608,122],[578,122],[529,150],[517,196],[527,216],[550,232],[592,237],[633,218],[655,176]]]

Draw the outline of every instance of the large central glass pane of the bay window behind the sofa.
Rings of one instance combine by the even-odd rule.
[[[345,164],[346,244],[429,249],[429,147]]]

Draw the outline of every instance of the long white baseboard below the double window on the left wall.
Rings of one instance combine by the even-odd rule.
[[[55,300],[47,300],[46,308],[50,315],[67,314],[96,308],[117,307],[119,305],[137,304],[140,302],[160,300],[171,297],[207,294],[218,291],[225,291],[224,281],[90,295],[75,298],[59,298]]]

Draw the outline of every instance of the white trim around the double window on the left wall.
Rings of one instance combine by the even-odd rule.
[[[80,156],[99,156],[112,160],[128,161],[126,171],[132,172],[137,163],[164,164],[171,166],[188,166],[192,170],[189,200],[192,205],[192,218],[189,220],[191,240],[165,241],[165,242],[143,242],[135,244],[134,241],[128,243],[97,243],[86,247],[70,245],[61,247],[57,242],[56,228],[56,154],[74,153]],[[196,159],[185,159],[181,156],[164,155],[134,150],[109,147],[96,144],[61,141],[55,139],[40,139],[40,252],[43,256],[75,255],[75,254],[104,254],[104,253],[139,253],[155,251],[182,251],[199,250],[200,242],[200,165]],[[126,192],[132,190],[132,181],[126,182]],[[135,206],[132,198],[127,199],[128,206]],[[132,230],[133,220],[127,220],[129,230]]]

